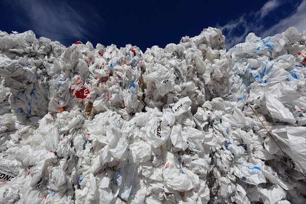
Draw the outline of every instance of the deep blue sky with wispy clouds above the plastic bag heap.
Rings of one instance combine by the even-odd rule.
[[[220,28],[227,48],[254,32],[266,37],[306,28],[306,0],[65,1],[0,0],[0,30],[32,30],[65,46],[81,40],[117,47],[179,43],[208,27]]]

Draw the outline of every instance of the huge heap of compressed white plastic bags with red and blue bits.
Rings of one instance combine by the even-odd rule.
[[[305,40],[0,32],[0,202],[306,203]]]

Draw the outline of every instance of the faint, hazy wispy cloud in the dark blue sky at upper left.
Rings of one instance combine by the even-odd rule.
[[[86,6],[86,16],[92,19],[87,20],[81,13],[69,6],[65,1],[29,1],[31,9],[25,13],[24,23],[31,24],[31,29],[38,35],[58,40],[67,44],[72,40],[87,40],[95,38],[87,30],[90,26],[101,26],[105,23],[104,19],[96,11]],[[84,3],[86,4],[86,3]]]

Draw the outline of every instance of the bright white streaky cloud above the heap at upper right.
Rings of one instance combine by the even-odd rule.
[[[297,27],[301,32],[306,28],[306,1],[297,4],[295,11],[286,18],[278,21],[269,29],[264,27],[264,20],[270,13],[283,5],[285,1],[270,0],[259,11],[244,13],[236,20],[231,20],[225,25],[216,25],[226,36],[226,48],[243,42],[248,33],[254,32],[257,36],[266,37],[284,32],[289,27]],[[254,20],[256,19],[256,20]],[[265,30],[266,29],[266,30]],[[238,31],[240,31],[238,33]]]

